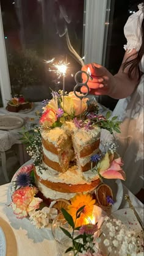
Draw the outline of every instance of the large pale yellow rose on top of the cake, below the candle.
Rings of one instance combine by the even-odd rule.
[[[82,95],[81,93],[77,92],[77,95]],[[68,115],[80,115],[85,110],[87,110],[87,100],[88,98],[82,99],[82,106],[81,106],[81,100],[80,98],[77,98],[74,92],[70,92],[68,96],[64,97],[64,111]],[[63,97],[62,97],[62,103],[61,106],[63,108]]]

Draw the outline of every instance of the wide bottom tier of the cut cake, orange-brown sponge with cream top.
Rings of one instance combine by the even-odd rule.
[[[67,172],[60,173],[52,168],[43,166],[43,171],[38,172],[38,166],[34,167],[36,180],[46,187],[59,192],[84,192],[95,189],[101,183],[98,174],[88,170],[82,174],[77,166],[70,167]],[[41,169],[40,169],[41,171]]]

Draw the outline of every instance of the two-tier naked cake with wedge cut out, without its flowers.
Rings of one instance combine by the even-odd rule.
[[[93,191],[100,181],[90,158],[99,153],[101,129],[77,128],[74,122],[42,129],[43,169],[35,166],[38,189],[46,198],[70,199],[77,192]]]

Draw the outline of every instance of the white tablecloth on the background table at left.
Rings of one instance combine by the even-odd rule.
[[[31,112],[27,113],[15,113],[15,112],[9,112],[5,108],[0,108],[0,115],[16,115],[24,119],[24,127],[29,130],[32,123],[38,123],[39,117],[35,115],[35,111],[41,111],[41,103],[36,102],[34,103],[34,107],[32,108]],[[34,119],[34,120],[31,120]],[[0,130],[0,151],[4,152],[9,150],[12,145],[19,144],[21,141],[20,134],[18,132],[21,132],[22,128],[13,129],[9,131]]]

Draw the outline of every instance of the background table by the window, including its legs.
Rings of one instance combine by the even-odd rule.
[[[30,112],[22,113],[22,112],[9,112],[5,108],[0,108],[0,115],[15,115],[24,119],[24,125],[27,130],[31,128],[32,124],[37,124],[39,117],[35,115],[36,111],[41,111],[41,102],[35,102],[34,107]],[[24,153],[24,147],[20,139],[20,134],[23,129],[13,129],[13,130],[0,130],[0,153],[2,159],[2,172],[4,173],[5,180],[9,182],[9,178],[7,176],[7,168],[6,168],[6,154],[5,152],[9,150],[12,145],[18,144],[18,151],[20,152],[20,165],[26,162],[26,154]]]

